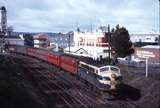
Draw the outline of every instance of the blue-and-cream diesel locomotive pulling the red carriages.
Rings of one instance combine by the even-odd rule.
[[[79,77],[102,91],[116,89],[117,84],[120,84],[122,80],[120,69],[116,66],[97,67],[80,61],[78,70]]]

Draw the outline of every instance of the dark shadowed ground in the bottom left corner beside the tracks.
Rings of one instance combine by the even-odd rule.
[[[0,108],[47,108],[23,71],[15,59],[0,55]]]

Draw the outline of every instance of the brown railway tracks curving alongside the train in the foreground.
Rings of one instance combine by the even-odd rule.
[[[11,54],[47,98],[48,108],[139,108],[130,100],[109,101],[72,75],[35,58]]]

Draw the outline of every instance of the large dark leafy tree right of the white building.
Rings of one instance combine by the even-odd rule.
[[[114,59],[126,57],[134,53],[132,42],[130,41],[128,30],[124,27],[116,26],[111,31],[111,47],[115,51]]]

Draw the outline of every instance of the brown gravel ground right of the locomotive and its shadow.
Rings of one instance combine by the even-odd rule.
[[[159,68],[160,69],[160,68]],[[150,71],[145,77],[145,69],[139,72],[137,69],[122,66],[124,82],[140,91],[140,97],[134,103],[139,108],[160,108],[160,70]],[[138,69],[139,70],[139,69]]]

